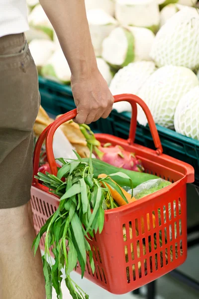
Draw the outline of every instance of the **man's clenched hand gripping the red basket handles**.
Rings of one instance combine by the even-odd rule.
[[[114,98],[98,69],[89,78],[72,76],[71,85],[78,112],[76,123],[91,124],[108,117]]]

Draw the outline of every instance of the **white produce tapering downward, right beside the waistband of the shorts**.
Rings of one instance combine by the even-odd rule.
[[[55,44],[47,39],[34,39],[29,43],[29,49],[40,73],[41,68],[54,53]]]

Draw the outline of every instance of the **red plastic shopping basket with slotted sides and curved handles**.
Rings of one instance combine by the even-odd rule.
[[[145,171],[171,181],[173,184],[134,203],[105,211],[101,234],[89,241],[96,266],[92,274],[89,259],[85,277],[113,294],[133,291],[183,264],[187,257],[186,184],[194,181],[194,168],[162,153],[162,146],[152,115],[146,104],[130,94],[115,96],[115,102],[128,101],[133,117],[128,140],[97,134],[102,143],[120,145],[135,152]],[[156,150],[134,144],[137,106],[144,110]],[[38,171],[41,145],[46,139],[50,169],[57,174],[52,141],[56,129],[77,115],[73,110],[59,117],[41,134],[34,152],[34,175]],[[31,204],[35,230],[38,233],[59,205],[59,199],[33,179]],[[154,223],[155,219],[155,223]],[[150,227],[149,227],[150,221]],[[135,228],[138,223],[138,230]],[[143,230],[144,223],[144,230]],[[44,248],[44,239],[41,240]],[[77,272],[81,273],[80,267]]]

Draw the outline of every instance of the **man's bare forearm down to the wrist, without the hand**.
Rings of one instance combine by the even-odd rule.
[[[84,0],[40,0],[51,21],[73,76],[90,77],[97,69]]]

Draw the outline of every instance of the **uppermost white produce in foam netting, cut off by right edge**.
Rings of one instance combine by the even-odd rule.
[[[185,6],[172,16],[158,31],[151,57],[164,65],[199,66],[199,11]]]

